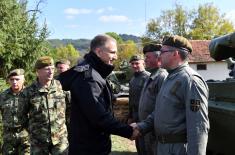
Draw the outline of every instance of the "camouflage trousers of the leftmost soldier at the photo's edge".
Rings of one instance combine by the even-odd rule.
[[[3,131],[3,155],[29,155],[30,144],[27,131]]]

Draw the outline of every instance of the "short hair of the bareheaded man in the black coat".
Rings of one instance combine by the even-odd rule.
[[[106,34],[97,35],[95,36],[95,38],[91,40],[90,50],[94,51],[96,48],[103,47],[108,41],[116,42],[116,40],[109,35]]]

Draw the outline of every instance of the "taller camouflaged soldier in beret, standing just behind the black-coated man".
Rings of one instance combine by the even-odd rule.
[[[65,155],[68,140],[65,125],[65,95],[60,82],[53,79],[54,63],[48,56],[35,64],[37,81],[25,89],[28,104],[22,107],[27,117],[32,155]]]

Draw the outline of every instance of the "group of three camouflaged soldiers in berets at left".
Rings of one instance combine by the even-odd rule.
[[[56,62],[57,73],[69,65]],[[3,155],[67,154],[70,94],[55,80],[55,66],[51,57],[40,57],[34,67],[37,80],[26,88],[23,69],[9,72],[10,88],[0,94]]]

